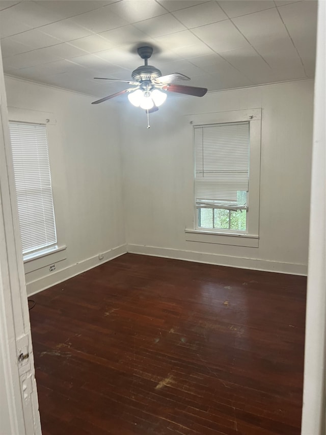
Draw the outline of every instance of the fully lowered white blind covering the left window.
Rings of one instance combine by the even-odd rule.
[[[9,122],[22,253],[57,243],[46,126]]]

